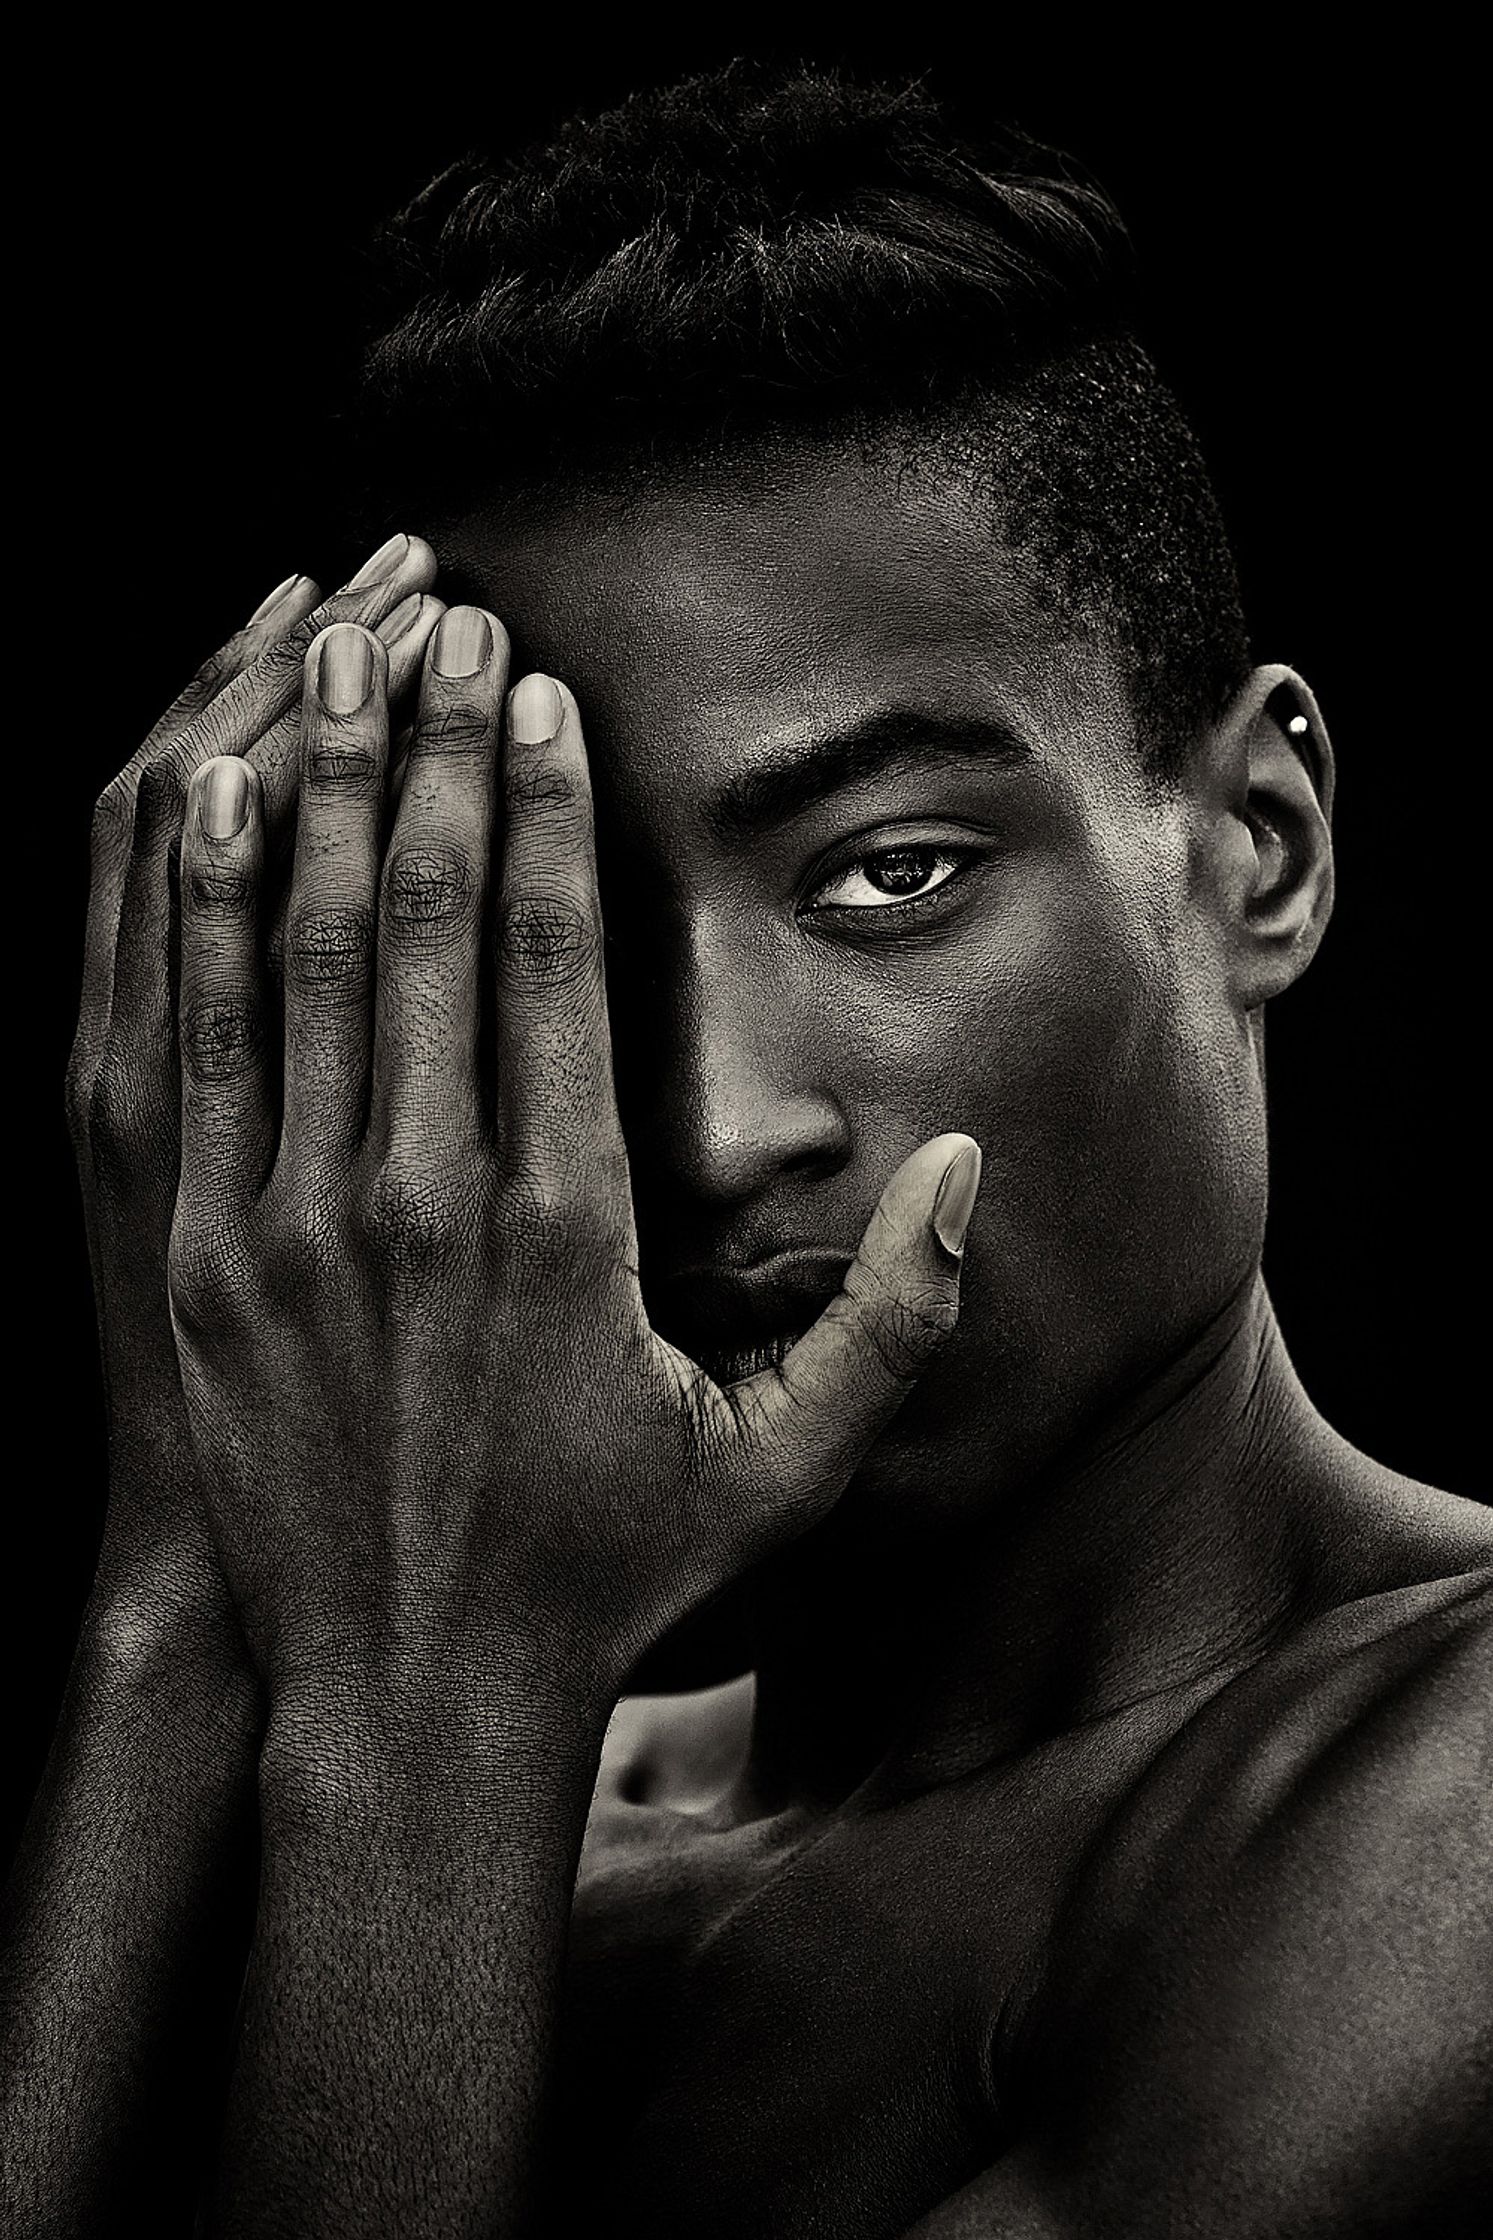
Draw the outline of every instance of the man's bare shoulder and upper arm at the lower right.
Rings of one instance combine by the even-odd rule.
[[[1491,1855],[1493,1568],[1220,1689],[1095,1848],[1027,2016],[1043,2197],[1081,2229],[1459,2231],[1493,2177]]]

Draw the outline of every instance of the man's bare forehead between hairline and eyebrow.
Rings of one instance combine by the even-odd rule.
[[[499,502],[436,535],[522,665],[575,690],[593,753],[701,780],[884,708],[996,717],[1039,753],[1128,746],[1108,650],[1007,551],[942,459],[824,450]]]

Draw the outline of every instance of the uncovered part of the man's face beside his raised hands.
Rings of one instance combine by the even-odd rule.
[[[745,1373],[971,1133],[956,1340],[857,1499],[967,1512],[1249,1275],[1262,1098],[1186,793],[947,468],[578,493],[436,538],[586,724],[656,1326]]]

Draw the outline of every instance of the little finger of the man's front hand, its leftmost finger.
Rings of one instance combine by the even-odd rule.
[[[269,1163],[262,867],[260,780],[215,757],[181,827],[181,1192],[197,1203],[248,1198]]]

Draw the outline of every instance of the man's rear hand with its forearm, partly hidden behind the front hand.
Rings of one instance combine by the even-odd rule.
[[[405,681],[441,612],[430,547],[320,603],[278,587],[98,802],[67,1104],[110,1404],[110,1505],[58,1738],[7,1904],[7,2209],[22,2231],[190,2215],[253,1922],[257,1673],[197,1494],[166,1248],[177,1196],[168,860],[190,771],[246,748],[284,820],[307,643],[385,623]],[[414,603],[414,605],[412,605]],[[385,620],[387,618],[387,620]],[[287,786],[291,780],[291,786]]]

